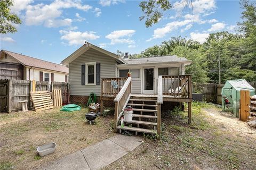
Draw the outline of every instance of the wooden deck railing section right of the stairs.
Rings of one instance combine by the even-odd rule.
[[[162,82],[163,95],[192,98],[191,75],[163,75]]]

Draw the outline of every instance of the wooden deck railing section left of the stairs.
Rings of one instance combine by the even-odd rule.
[[[116,96],[126,80],[127,77],[101,79],[101,96]]]

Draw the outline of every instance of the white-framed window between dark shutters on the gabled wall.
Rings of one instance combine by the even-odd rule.
[[[85,63],[85,84],[96,85],[96,62]]]

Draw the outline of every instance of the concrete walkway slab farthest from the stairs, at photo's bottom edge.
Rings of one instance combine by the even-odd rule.
[[[45,167],[39,168],[39,170],[90,170],[90,167],[86,163],[81,150],[62,157],[61,159],[52,162]]]

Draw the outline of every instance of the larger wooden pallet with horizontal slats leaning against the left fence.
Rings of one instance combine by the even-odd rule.
[[[52,98],[49,91],[30,91],[35,111],[44,111],[53,108]]]

